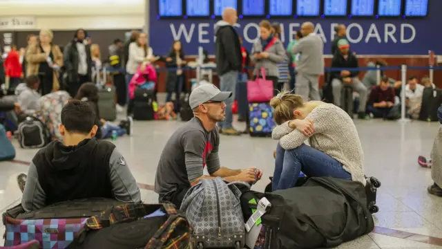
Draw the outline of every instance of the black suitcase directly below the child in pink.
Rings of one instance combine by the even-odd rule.
[[[155,93],[149,89],[135,89],[133,98],[133,119],[134,120],[154,120],[153,110]]]

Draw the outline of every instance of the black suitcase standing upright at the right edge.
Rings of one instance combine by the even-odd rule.
[[[421,112],[419,113],[419,120],[424,121],[438,121],[437,109],[442,104],[442,89],[433,89],[426,87],[423,89]]]

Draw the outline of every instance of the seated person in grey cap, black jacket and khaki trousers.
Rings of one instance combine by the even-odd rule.
[[[332,59],[332,67],[334,68],[358,68],[358,58],[349,50],[350,45],[347,39],[338,41],[338,52]],[[367,103],[367,89],[361,80],[358,79],[359,71],[334,71],[332,72],[332,89],[334,96],[334,104],[341,107],[341,93],[343,86],[352,86],[359,93],[359,110],[358,118],[367,118],[365,113],[365,104]]]

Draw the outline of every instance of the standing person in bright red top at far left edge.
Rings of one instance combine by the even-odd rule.
[[[20,77],[23,75],[23,70],[20,64],[20,55],[17,52],[17,46],[12,45],[8,56],[5,59],[5,75],[9,77],[8,92],[14,93],[15,88],[20,83]]]

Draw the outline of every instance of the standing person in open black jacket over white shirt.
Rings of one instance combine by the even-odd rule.
[[[71,97],[77,95],[81,84],[92,81],[92,58],[86,37],[86,31],[80,28],[75,31],[74,39],[64,48],[64,66],[68,73]]]

